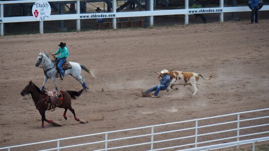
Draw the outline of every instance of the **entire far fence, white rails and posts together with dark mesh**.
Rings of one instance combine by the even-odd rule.
[[[197,19],[195,17],[195,14],[203,14],[204,16],[207,16],[207,21],[216,21],[217,18],[217,21],[224,22],[225,14],[229,15],[232,13],[233,19],[236,19],[238,18],[236,13],[251,12],[246,2],[240,5],[231,5],[230,1],[226,0],[214,1],[214,3],[208,3],[209,0],[200,1],[203,2],[203,8],[201,9],[191,8],[194,3],[193,0],[164,0],[162,1],[162,3],[160,3],[160,1],[158,0],[146,0],[143,2],[140,1],[139,4],[135,4],[136,8],[129,9],[127,7],[129,6],[128,1],[48,0],[47,2],[52,5],[52,10],[51,14],[45,21],[37,21],[32,15],[31,6],[33,6],[33,4],[37,2],[36,0],[4,1],[0,2],[0,35],[3,36],[4,34],[9,34],[12,32],[15,32],[15,34],[23,34],[72,31],[74,32],[87,29],[96,29],[97,25],[95,20],[98,18],[112,19],[112,28],[118,29],[123,28],[123,24],[119,24],[121,21],[116,19],[122,19],[124,22],[126,22],[126,19],[139,17],[140,20],[143,21],[142,24],[145,25],[142,27],[152,27],[156,25],[162,26],[163,24],[187,25],[189,23],[195,22],[195,20]],[[165,2],[168,2],[168,4],[163,4]],[[180,3],[174,4],[175,2]],[[92,3],[94,5],[90,5],[89,3]],[[102,7],[103,12],[96,13],[94,11],[94,7]],[[259,11],[261,13],[264,12],[265,14],[269,11],[269,4],[267,0],[264,0],[264,5]],[[20,13],[13,14],[13,12]],[[264,16],[264,18],[266,18],[266,15],[260,16]],[[161,18],[161,20],[159,20],[159,18]],[[162,18],[165,19],[165,21],[163,21]],[[248,18],[250,18],[250,16]],[[170,19],[173,20],[171,21]],[[38,24],[34,22],[38,22]],[[46,22],[48,22],[49,24],[46,24]],[[12,23],[16,23],[18,26],[13,26]],[[137,26],[139,25],[138,22],[133,23],[137,24]],[[25,27],[27,26],[25,24],[32,27],[26,29]],[[127,27],[127,25],[128,22],[126,22],[124,26]],[[52,30],[47,30],[48,28]]]

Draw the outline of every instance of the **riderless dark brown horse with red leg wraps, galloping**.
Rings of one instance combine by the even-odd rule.
[[[76,117],[75,110],[71,106],[71,99],[76,99],[76,97],[79,97],[84,89],[80,90],[79,92],[76,91],[60,91],[61,97],[60,99],[57,99],[57,103],[55,107],[64,108],[64,118],[67,120],[66,112],[67,109],[69,109],[73,115],[76,121],[80,121],[79,118]],[[52,123],[52,120],[47,120],[45,117],[45,111],[51,109],[48,107],[50,104],[51,98],[45,93],[40,91],[40,89],[32,83],[32,81],[29,82],[29,84],[22,90],[21,95],[25,96],[26,94],[31,94],[32,99],[35,103],[36,109],[39,111],[39,113],[42,116],[42,127],[44,128],[44,121],[48,123]],[[55,99],[56,100],[56,99]],[[51,103],[52,104],[52,103]]]

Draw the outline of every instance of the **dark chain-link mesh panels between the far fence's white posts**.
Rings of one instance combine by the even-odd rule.
[[[101,10],[100,13],[113,12],[113,1],[99,0],[99,1],[80,1],[80,13],[96,13],[96,9]],[[145,0],[129,0],[117,1],[117,12],[141,12],[149,11],[148,1]],[[4,17],[19,17],[32,16],[32,6],[34,3],[23,4],[5,4]],[[68,2],[49,2],[51,7],[51,15],[59,14],[76,14],[77,1]],[[220,6],[218,0],[190,0],[189,8],[217,8]],[[269,0],[263,0],[263,5],[269,5]],[[225,0],[224,7],[248,6],[246,0]],[[185,9],[185,0],[154,0],[154,11],[159,10],[178,10]],[[224,21],[231,20],[250,20],[251,12],[240,13],[224,13]],[[259,19],[269,19],[268,11],[260,11]],[[130,22],[132,21],[132,22]],[[154,26],[174,26],[184,25],[185,15],[164,15],[154,16]],[[112,22],[112,19],[106,19],[105,22]],[[211,14],[190,14],[189,24],[202,24],[220,22],[219,13]],[[55,32],[73,32],[76,31],[76,20],[62,20],[62,21],[45,21],[44,33]],[[117,29],[119,28],[141,28],[149,26],[149,17],[125,17],[117,18]],[[82,19],[80,20],[80,30],[104,30],[111,29],[111,24],[96,24],[96,19]],[[35,34],[39,33],[39,22],[22,22],[22,23],[5,23],[5,35],[16,34]]]

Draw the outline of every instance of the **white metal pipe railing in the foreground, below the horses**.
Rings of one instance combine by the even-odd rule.
[[[71,147],[78,147],[78,146],[85,146],[92,144],[102,144],[104,148],[97,149],[98,151],[101,150],[112,150],[112,149],[119,149],[119,148],[127,148],[127,147],[133,147],[133,146],[144,146],[148,145],[149,150],[165,150],[165,149],[173,149],[173,148],[179,148],[179,147],[189,147],[188,149],[183,149],[183,150],[202,150],[202,149],[217,149],[217,148],[223,148],[223,147],[231,147],[231,146],[236,146],[239,147],[240,144],[247,144],[247,143],[252,143],[254,146],[256,142],[260,141],[268,141],[269,140],[269,123],[268,120],[263,120],[265,123],[261,124],[255,124],[256,122],[253,122],[254,120],[259,120],[261,121],[262,119],[269,118],[269,108],[266,109],[260,109],[260,110],[252,110],[252,111],[246,111],[246,112],[239,112],[239,113],[232,113],[232,114],[226,114],[226,115],[220,115],[220,116],[213,116],[213,117],[206,117],[206,118],[199,118],[199,119],[193,119],[193,120],[186,120],[186,121],[179,121],[179,122],[173,122],[173,123],[165,123],[165,124],[158,124],[158,125],[151,125],[151,126],[144,126],[144,127],[137,127],[137,128],[130,128],[130,129],[123,129],[123,130],[115,130],[115,131],[108,131],[108,132],[100,132],[100,133],[94,133],[94,134],[88,134],[88,135],[80,135],[80,136],[74,136],[74,137],[67,137],[67,138],[60,138],[60,139],[53,139],[53,140],[48,140],[48,141],[41,141],[41,142],[35,142],[35,143],[28,143],[28,144],[22,144],[22,145],[14,145],[14,146],[7,146],[7,147],[2,147],[1,149],[8,149],[11,150],[12,148],[17,148],[17,147],[23,147],[23,146],[29,146],[29,145],[34,145],[34,144],[42,144],[42,143],[49,143],[49,142],[57,142],[57,147],[55,148],[49,148],[49,149],[44,149],[44,150],[60,150],[64,148],[71,148]],[[259,117],[254,117],[254,118],[246,118],[246,119],[240,119],[241,116],[247,116],[249,115],[248,113],[253,113],[256,112],[255,114],[260,114]],[[251,115],[251,114],[250,114]],[[234,117],[236,116],[236,117]],[[251,115],[253,116],[253,115]],[[224,119],[223,119],[224,118]],[[233,121],[227,121],[227,119],[234,119],[237,118],[236,120]],[[210,120],[210,121],[207,121]],[[201,124],[201,122],[212,122],[212,120],[225,120],[226,122],[220,122],[220,123],[213,123],[213,124]],[[175,124],[183,124],[183,123],[190,123],[193,125],[192,127],[185,127],[182,129],[174,129],[174,130],[169,130],[169,131],[160,131],[156,132],[156,128],[166,128],[166,126],[171,126]],[[251,126],[240,126],[240,124],[251,124]],[[213,131],[213,132],[204,132],[201,133],[199,132],[199,129],[202,128],[210,128],[211,130],[216,128],[216,126],[224,126],[230,128],[230,129],[225,129],[225,130],[220,130],[220,131]],[[261,129],[255,129],[263,127],[263,130]],[[265,127],[265,128],[264,128]],[[111,136],[112,134],[117,134],[120,132],[134,132],[134,130],[146,130],[150,129],[148,133],[142,134],[142,135],[132,135],[129,137],[121,137],[121,138],[111,138],[109,139],[109,135]],[[241,134],[240,131],[244,129],[250,129],[251,133],[247,134]],[[172,136],[173,134],[179,134],[178,132],[183,133],[184,131],[189,131],[193,130],[193,132],[189,133],[194,133],[194,135],[187,135],[183,137],[176,137],[176,138],[169,138],[169,139],[162,139],[162,140],[154,140],[154,137],[157,135],[161,134],[170,134]],[[256,130],[256,132],[254,132]],[[233,132],[232,136],[225,137],[225,138],[218,138],[218,139],[211,139],[211,140],[206,140],[206,141],[198,141],[199,137],[201,136],[216,136],[217,134],[224,134],[227,132]],[[188,133],[188,134],[189,134]],[[264,137],[265,135],[265,137]],[[66,145],[66,146],[60,146],[60,142],[63,140],[69,140],[69,139],[75,139],[75,138],[82,138],[82,137],[89,137],[89,136],[102,136],[104,137],[103,140],[98,140],[98,141],[93,141],[93,142],[87,142],[87,143],[81,143],[81,144],[74,144],[74,145]],[[255,136],[256,138],[249,138],[249,136]],[[148,142],[142,142],[142,143],[135,143],[135,144],[129,144],[129,145],[121,145],[121,146],[113,146],[109,147],[109,143],[113,143],[118,140],[127,140],[127,139],[139,139],[141,137],[148,137],[150,138],[151,141]],[[182,145],[174,145],[174,146],[166,146],[162,148],[154,148],[155,144],[161,143],[161,142],[171,142],[174,140],[182,140],[186,138],[194,138],[194,141],[189,144],[182,144]],[[236,141],[232,142],[226,142],[226,143],[215,143],[218,141],[223,141],[223,140],[231,140],[231,139],[236,139]],[[247,140],[242,140],[242,139],[247,139]],[[205,143],[210,143],[209,145],[202,146]],[[199,145],[199,146],[198,146]],[[255,147],[254,147],[255,148]]]

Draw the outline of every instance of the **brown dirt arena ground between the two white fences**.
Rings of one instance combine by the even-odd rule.
[[[249,22],[2,36],[0,146],[268,108],[269,20]],[[43,70],[35,67],[36,57],[55,52],[61,41],[67,43],[69,61],[97,71],[97,79],[82,71],[89,90],[72,101],[77,116],[89,123],[78,123],[70,111],[64,120],[64,109],[57,108],[46,117],[63,126],[41,128],[41,116],[20,92],[29,81],[41,88]],[[215,78],[200,79],[195,96],[190,86],[177,86],[178,91],[161,91],[161,98],[142,98],[141,90],[158,84],[154,71],[162,69]],[[61,90],[82,89],[70,75],[57,82]],[[54,89],[51,80],[46,89]],[[37,149],[42,148],[28,150]]]

